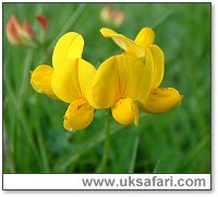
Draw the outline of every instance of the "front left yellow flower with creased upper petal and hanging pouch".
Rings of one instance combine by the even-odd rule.
[[[70,103],[63,121],[66,130],[83,129],[93,121],[94,107],[89,103],[95,72],[94,66],[80,58],[65,60],[53,70],[51,88],[60,100]]]

